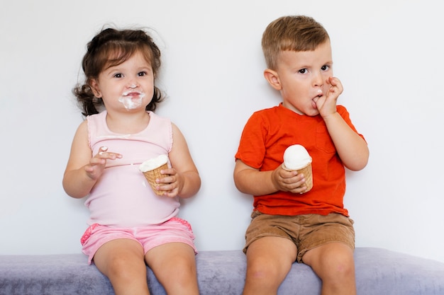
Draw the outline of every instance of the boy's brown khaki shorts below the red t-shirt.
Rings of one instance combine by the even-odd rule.
[[[326,243],[345,243],[355,249],[353,220],[341,214],[306,214],[296,216],[268,215],[252,212],[251,224],[245,233],[245,248],[265,236],[287,238],[296,245],[296,261],[301,262],[304,254]]]

